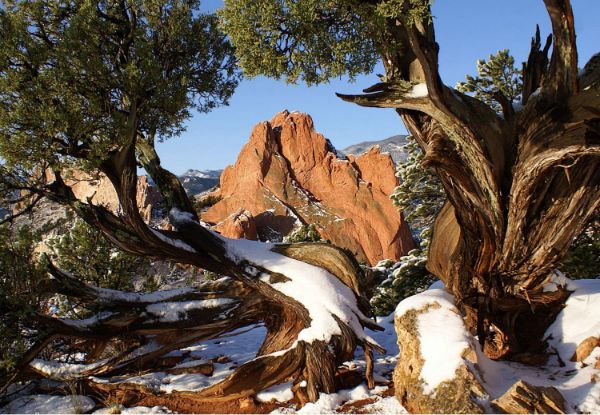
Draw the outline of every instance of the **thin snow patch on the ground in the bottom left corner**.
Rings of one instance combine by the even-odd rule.
[[[0,409],[4,414],[82,414],[91,411],[96,404],[81,395],[52,396],[27,395],[15,399]]]

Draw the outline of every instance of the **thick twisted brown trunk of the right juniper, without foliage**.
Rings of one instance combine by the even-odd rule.
[[[553,35],[542,48],[538,29],[532,41],[522,106],[498,92],[499,115],[445,86],[426,20],[390,19],[387,82],[339,95],[397,110],[448,196],[430,271],[456,296],[488,356],[525,362],[543,358],[543,334],[569,295],[543,285],[600,205],[598,55],[578,76],[570,1],[545,3]]]

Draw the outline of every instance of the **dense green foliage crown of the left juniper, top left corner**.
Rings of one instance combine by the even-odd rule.
[[[198,1],[3,4],[0,157],[11,168],[89,170],[131,131],[179,134],[192,109],[226,104],[237,85],[233,49]]]

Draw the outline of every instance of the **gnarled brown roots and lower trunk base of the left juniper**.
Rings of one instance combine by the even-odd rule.
[[[321,258],[315,258],[315,248],[320,249]],[[275,249],[334,271],[334,275],[356,295],[357,310],[368,312],[366,298],[360,294],[358,268],[339,250],[315,244],[293,248],[283,245]],[[285,275],[264,268],[260,270],[270,275],[271,281],[275,279],[276,283],[285,284]],[[94,381],[95,377],[123,377],[140,370],[156,370],[157,362],[170,351],[262,323],[267,334],[256,358],[206,389],[179,393],[202,402],[226,402],[247,398],[272,385],[294,379],[297,393],[305,395],[309,401],[316,401],[320,392],[336,390],[337,369],[353,357],[357,346],[366,352],[366,378],[369,386],[374,386],[372,350],[383,351],[380,346],[357,330],[351,321],[342,321],[333,313],[338,326],[335,332],[323,333],[322,338],[302,339],[300,333],[311,327],[315,316],[294,298],[273,289],[272,282],[263,282],[262,278],[223,278],[194,288],[132,294],[87,285],[52,265],[49,272],[52,278],[44,284],[47,291],[77,298],[94,310],[94,314],[83,320],[38,315],[37,322],[47,328],[46,335],[40,346],[21,362],[23,372],[59,380],[80,380],[97,392],[106,389],[106,393],[114,393],[110,383]],[[327,297],[322,300],[329,301]],[[379,328],[360,311],[357,311],[357,321],[363,326]],[[60,373],[48,370],[46,362],[35,360],[35,357],[46,344],[63,337],[86,341],[88,363],[71,365]],[[119,353],[108,353],[108,346],[116,340],[129,347]],[[165,359],[162,363],[158,369],[168,370],[164,367]],[[176,360],[171,362],[175,363]],[[121,383],[118,388],[138,396],[156,396],[139,385]]]

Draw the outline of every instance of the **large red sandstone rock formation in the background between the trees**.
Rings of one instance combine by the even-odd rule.
[[[276,241],[301,224],[361,261],[398,259],[415,247],[389,195],[397,185],[392,159],[377,147],[338,159],[310,116],[283,111],[254,127],[233,166],[221,175],[222,199],[203,215],[219,225],[240,208],[254,217],[257,236]]]

